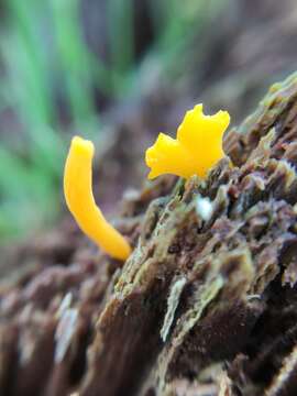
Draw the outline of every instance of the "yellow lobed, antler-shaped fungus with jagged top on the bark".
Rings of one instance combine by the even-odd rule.
[[[150,179],[163,174],[185,178],[198,175],[204,178],[224,156],[222,136],[230,116],[227,111],[205,116],[202,110],[202,105],[197,105],[187,111],[176,139],[160,133],[155,144],[146,150],[145,162],[151,167]]]

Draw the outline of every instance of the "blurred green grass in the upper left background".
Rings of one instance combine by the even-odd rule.
[[[219,6],[219,1],[204,3],[209,9]],[[172,62],[197,23],[201,6],[200,1],[138,6],[132,0],[2,3],[2,241],[57,219],[69,135],[82,133],[100,140],[101,112],[114,100],[140,95],[141,69],[147,57],[160,57],[164,66]],[[143,43],[136,43],[133,32],[138,12],[146,13],[140,15],[146,23]],[[95,32],[88,23],[95,24]]]

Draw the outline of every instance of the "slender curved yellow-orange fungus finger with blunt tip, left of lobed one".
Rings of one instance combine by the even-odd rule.
[[[105,219],[92,195],[94,144],[75,136],[64,172],[64,194],[67,206],[80,229],[105,252],[125,260],[131,248],[125,239]]]

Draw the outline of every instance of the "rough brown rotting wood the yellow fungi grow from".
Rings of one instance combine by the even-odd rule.
[[[64,265],[41,249],[2,283],[1,395],[296,395],[297,75],[224,146],[205,182],[125,199],[123,267],[66,224]]]

